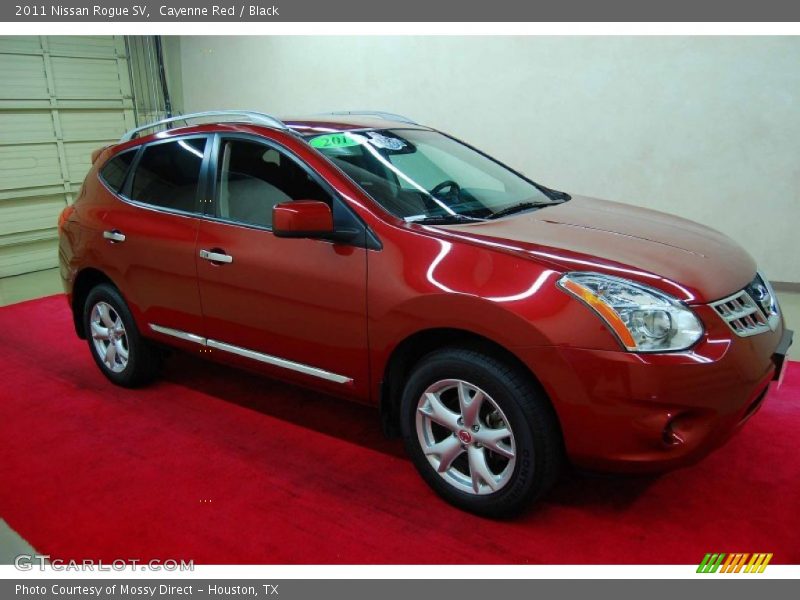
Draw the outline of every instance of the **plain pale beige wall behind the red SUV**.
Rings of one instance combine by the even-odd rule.
[[[368,29],[368,25],[365,26]],[[800,38],[185,37],[186,110],[382,109],[800,281]]]

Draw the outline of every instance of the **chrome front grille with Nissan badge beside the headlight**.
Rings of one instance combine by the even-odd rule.
[[[756,275],[743,290],[712,302],[711,307],[736,335],[742,337],[771,331],[778,325],[775,293],[761,275]]]

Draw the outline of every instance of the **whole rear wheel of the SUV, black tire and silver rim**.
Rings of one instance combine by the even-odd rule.
[[[94,362],[112,383],[139,387],[158,375],[158,349],[139,334],[131,311],[114,286],[103,283],[89,292],[83,326]]]

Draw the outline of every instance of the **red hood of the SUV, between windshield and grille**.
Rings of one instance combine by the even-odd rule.
[[[475,243],[533,254],[561,270],[635,279],[689,303],[728,296],[756,272],[750,255],[714,229],[595,198],[574,196],[497,221],[439,229]]]

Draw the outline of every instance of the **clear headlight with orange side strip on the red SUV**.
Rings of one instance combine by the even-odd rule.
[[[703,325],[690,308],[641,283],[599,273],[567,273],[558,285],[594,310],[628,350],[685,350],[703,335]]]

